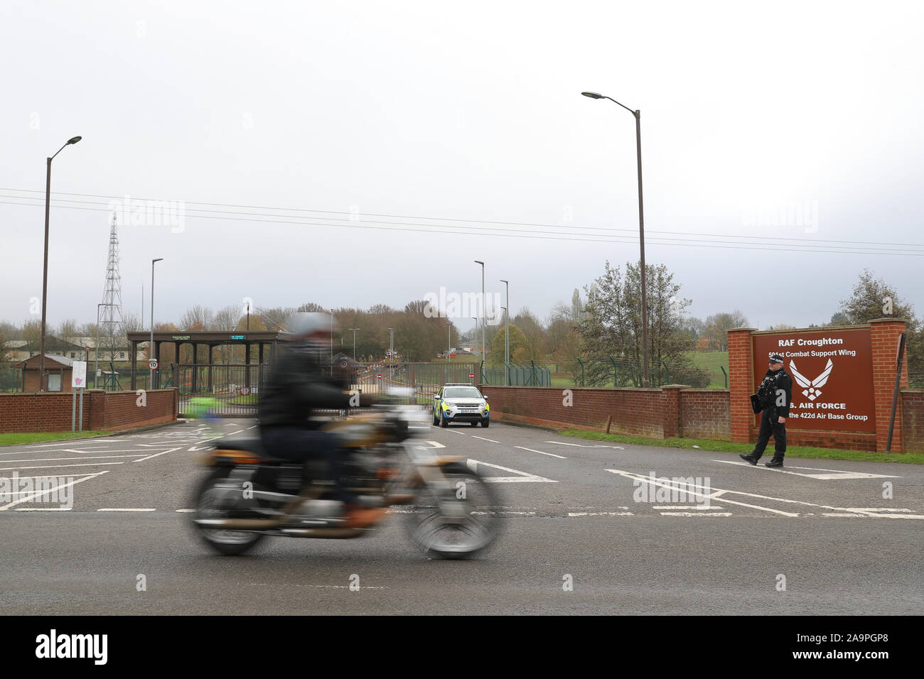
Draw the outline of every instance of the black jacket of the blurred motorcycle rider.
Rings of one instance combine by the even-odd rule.
[[[260,394],[260,426],[309,427],[315,408],[346,408],[350,394],[323,374],[310,352],[280,346]]]

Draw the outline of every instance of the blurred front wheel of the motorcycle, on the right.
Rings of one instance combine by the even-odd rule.
[[[407,513],[414,545],[436,559],[465,559],[489,547],[501,529],[500,502],[491,483],[468,466],[443,467],[449,484],[423,485]]]

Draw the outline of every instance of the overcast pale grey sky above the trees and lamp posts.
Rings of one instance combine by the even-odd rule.
[[[921,313],[921,7],[7,0],[0,318],[30,318],[41,297],[44,159],[73,135],[83,140],[55,158],[53,194],[96,210],[51,212],[50,323],[95,318],[109,231],[109,199],[56,192],[187,201],[182,231],[120,229],[126,310],[140,312],[151,259],[164,258],[156,322],[243,297],[403,306],[441,285],[479,290],[472,260],[486,261],[489,292],[509,279],[511,307],[545,317],[605,259],[638,259],[635,121],[584,90],[641,110],[646,255],[675,273],[692,314],[826,321],[865,267]],[[457,234],[407,232],[369,220],[420,220],[376,213],[630,237],[489,236],[490,224],[459,222],[445,223]],[[889,247],[843,241],[918,249],[819,251]],[[714,247],[729,245],[755,249]]]

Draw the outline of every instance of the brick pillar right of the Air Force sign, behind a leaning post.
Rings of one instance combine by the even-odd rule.
[[[892,393],[895,388],[895,358],[898,355],[898,337],[905,332],[905,321],[876,319],[869,321],[872,339],[872,388],[876,408],[876,452],[885,452],[889,438],[889,416],[892,412]],[[901,387],[908,388],[907,348],[902,362]],[[899,394],[895,407],[895,426],[892,432],[892,452],[904,451],[902,441],[902,399]]]

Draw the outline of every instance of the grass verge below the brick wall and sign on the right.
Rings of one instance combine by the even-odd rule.
[[[733,443],[731,441],[710,441],[707,439],[645,439],[640,436],[626,436],[623,434],[608,434],[603,431],[581,429],[565,429],[558,433],[563,436],[572,436],[590,441],[605,441],[606,443],[630,443],[632,445],[653,445],[659,448],[685,448],[699,449],[714,453],[750,453],[754,450],[752,443]],[[769,460],[772,456],[772,443],[764,454]],[[786,457],[805,457],[820,460],[853,460],[856,462],[901,462],[907,465],[924,465],[924,454],[921,453],[869,453],[859,450],[839,450],[835,448],[809,448],[799,445],[786,447]]]

